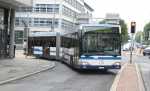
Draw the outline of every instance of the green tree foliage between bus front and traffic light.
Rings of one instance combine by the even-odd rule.
[[[121,26],[122,44],[125,44],[126,42],[128,42],[129,39],[127,24],[124,22],[124,20],[120,20],[120,26]]]

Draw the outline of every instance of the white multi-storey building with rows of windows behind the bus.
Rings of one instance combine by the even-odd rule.
[[[20,7],[16,11],[16,44],[23,42],[25,26],[30,32],[77,31],[79,14],[85,11],[84,0],[33,0],[32,7]]]

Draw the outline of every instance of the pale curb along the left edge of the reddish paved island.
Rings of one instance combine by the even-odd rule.
[[[125,68],[126,66],[127,66],[127,63],[125,63],[125,64],[123,65],[123,67],[121,68],[121,70],[118,72],[118,74],[117,74],[117,76],[116,76],[116,78],[115,78],[115,80],[114,80],[114,82],[113,82],[113,84],[112,84],[112,86],[111,86],[111,88],[110,88],[110,91],[117,91],[117,85],[118,85],[120,76],[121,76],[121,74],[122,74],[122,72],[123,72],[123,70],[124,70],[124,68]]]

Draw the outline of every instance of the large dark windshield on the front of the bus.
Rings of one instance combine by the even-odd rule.
[[[120,55],[119,33],[85,33],[82,49],[84,54]]]

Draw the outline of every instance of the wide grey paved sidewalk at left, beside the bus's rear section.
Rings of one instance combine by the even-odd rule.
[[[0,85],[51,69],[54,66],[54,62],[34,57],[26,58],[23,51],[16,51],[16,58],[0,60]]]

